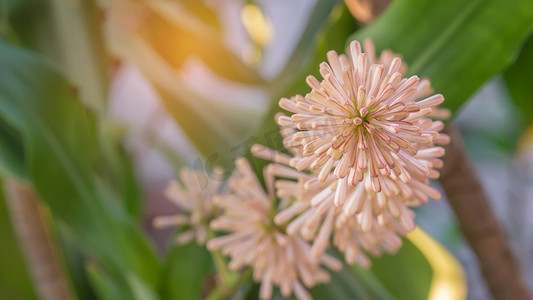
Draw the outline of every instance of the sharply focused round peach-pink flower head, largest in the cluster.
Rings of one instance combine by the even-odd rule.
[[[287,141],[302,147],[304,157],[293,163],[298,170],[320,170],[318,179],[324,182],[334,168],[335,178],[347,178],[350,185],[363,181],[368,172],[372,188],[379,192],[380,175],[404,182],[431,175],[431,168],[416,155],[447,141],[439,134],[442,122],[428,118],[446,113],[437,109],[444,98],[431,96],[428,80],[404,78],[406,66],[400,57],[390,51],[376,57],[370,41],[365,50],[353,41],[349,56],[328,52],[329,64],[320,65],[323,80],[309,76],[310,93],[281,99],[279,105],[294,114],[278,118],[278,123],[298,129]],[[436,155],[441,150],[427,152]]]

